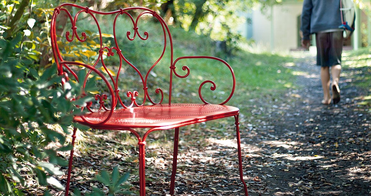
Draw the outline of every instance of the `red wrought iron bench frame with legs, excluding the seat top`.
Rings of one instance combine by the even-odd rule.
[[[66,9],[66,6],[75,7],[75,9],[78,9],[79,11],[75,14],[74,17],[72,17],[72,15],[69,13],[68,9]],[[128,12],[128,11],[133,11],[133,10],[142,11],[141,13],[138,14],[136,19],[134,19],[134,17],[132,17],[131,14]],[[76,31],[76,29],[77,29],[76,22],[78,20],[79,14],[84,12],[86,14],[89,14],[92,17],[92,19],[94,19],[94,21],[96,23],[96,26],[98,27],[98,31],[99,31],[100,49],[99,49],[99,56],[98,56],[96,62],[93,63],[92,66],[88,65],[88,64],[81,63],[81,62],[72,62],[72,61],[63,60],[62,55],[60,54],[60,50],[58,48],[57,36],[56,36],[56,19],[57,19],[57,16],[61,12],[66,13],[68,15],[68,19],[72,23],[72,28],[71,28],[72,33],[70,31],[66,31],[66,34],[65,34],[66,40],[69,41],[69,42],[73,41],[75,38],[80,42],[83,42],[87,39],[85,32],[82,32],[81,37],[80,37],[78,35],[77,31]],[[94,14],[102,14],[102,15],[116,14],[115,20],[114,20],[114,23],[113,23],[113,30],[114,30],[113,33],[114,33],[115,46],[113,46],[113,47],[104,46],[104,44],[102,42],[101,27],[99,26],[98,20],[96,19]],[[141,36],[141,34],[139,33],[139,28],[138,28],[139,18],[141,16],[143,16],[144,14],[152,15],[161,24],[163,34],[164,34],[164,49],[161,53],[160,58],[150,67],[150,69],[147,71],[145,76],[143,76],[141,74],[141,72],[139,72],[139,70],[131,62],[129,62],[129,60],[127,60],[125,58],[125,56],[122,54],[122,52],[120,50],[120,47],[119,47],[119,44],[118,44],[117,40],[116,40],[116,32],[115,32],[116,21],[117,21],[118,17],[120,15],[123,15],[123,14],[128,16],[129,19],[132,21],[132,24],[133,24],[134,35],[132,37],[130,37],[131,34],[132,34],[131,31],[127,31],[128,40],[134,40],[136,37],[139,37],[139,39],[142,39],[142,40],[147,40],[148,39],[149,33],[147,31],[145,31],[143,33],[144,36]],[[99,104],[100,104],[99,109],[97,111],[93,111],[93,109],[91,108],[91,105],[92,105],[91,103],[88,103],[85,107],[81,107],[82,110],[86,109],[91,113],[101,112],[101,111],[108,112],[108,115],[105,117],[105,119],[102,119],[99,122],[89,121],[83,115],[79,116],[83,120],[83,124],[86,124],[86,125],[88,125],[92,128],[95,128],[95,129],[107,129],[107,127],[105,127],[105,123],[111,118],[111,116],[112,116],[114,110],[116,109],[116,106],[118,106],[118,104],[119,104],[119,106],[123,107],[124,109],[128,109],[128,108],[131,108],[131,107],[142,107],[142,106],[144,106],[147,99],[152,104],[161,104],[162,103],[162,101],[164,100],[164,93],[162,92],[162,90],[160,88],[157,88],[155,90],[155,93],[161,94],[161,100],[159,102],[154,102],[154,100],[151,99],[150,94],[148,93],[147,79],[148,79],[148,76],[149,76],[151,70],[158,64],[158,62],[160,62],[160,60],[162,59],[162,57],[165,54],[165,50],[166,50],[166,47],[167,47],[167,38],[170,40],[169,44],[170,44],[170,58],[171,58],[171,60],[170,60],[170,62],[171,62],[170,63],[170,86],[169,86],[169,97],[168,97],[168,100],[169,100],[168,104],[169,105],[171,105],[171,90],[172,90],[173,74],[177,77],[180,77],[180,78],[185,78],[190,74],[190,69],[187,66],[182,67],[182,70],[186,71],[186,73],[184,75],[180,75],[176,72],[175,64],[179,60],[182,60],[182,59],[212,59],[212,60],[217,60],[221,63],[224,63],[227,66],[227,68],[231,72],[231,76],[232,76],[232,80],[233,80],[232,90],[231,90],[231,93],[229,94],[229,96],[227,97],[227,99],[224,100],[223,102],[221,102],[220,105],[226,104],[230,100],[230,98],[232,97],[232,95],[234,93],[234,90],[235,90],[236,79],[234,77],[233,70],[230,67],[230,65],[222,59],[219,59],[217,57],[212,57],[212,56],[184,56],[184,57],[179,57],[179,58],[174,60],[174,58],[173,58],[173,40],[171,38],[171,33],[170,33],[170,30],[169,30],[167,24],[161,18],[161,16],[157,14],[156,11],[153,11],[153,10],[150,10],[150,9],[147,9],[147,8],[144,8],[144,7],[129,7],[129,8],[119,9],[119,10],[111,11],[111,12],[101,12],[101,11],[91,10],[91,9],[89,9],[89,7],[83,7],[83,6],[79,6],[79,5],[71,4],[71,3],[64,3],[64,4],[61,4],[60,6],[56,7],[55,10],[54,10],[52,21],[51,21],[51,26],[50,26],[50,37],[51,37],[51,43],[52,43],[53,56],[54,56],[54,59],[55,59],[55,62],[57,64],[57,66],[58,66],[58,73],[59,73],[59,75],[64,76],[63,79],[62,79],[62,84],[66,83],[70,80],[69,75],[72,75],[74,77],[74,79],[77,82],[79,82],[77,74],[69,67],[69,65],[76,65],[76,66],[85,67],[89,70],[88,73],[86,74],[85,80],[83,81],[83,87],[85,87],[85,84],[88,80],[88,76],[92,72],[94,72],[99,77],[101,77],[104,80],[106,86],[108,87],[109,93],[111,94],[111,104],[110,104],[111,108],[107,108],[104,105],[105,100],[108,99],[107,94],[96,94],[95,95],[95,100],[97,100],[97,101],[99,100]],[[115,52],[116,52],[117,55],[119,55],[120,65],[119,65],[119,69],[118,69],[118,73],[116,75],[116,78],[114,78],[114,76],[112,76],[112,74],[108,71],[108,69],[107,69],[107,67],[104,63],[103,54],[104,54],[105,50],[107,51],[108,56],[114,56]],[[108,73],[108,75],[109,75],[108,79],[106,79],[104,74],[102,74],[98,69],[95,68],[96,65],[99,62],[101,62],[102,66],[104,67],[104,69],[106,71],[106,73]],[[128,106],[125,105],[122,102],[121,97],[119,96],[119,91],[120,90],[118,89],[118,83],[119,83],[118,79],[119,79],[119,74],[120,74],[120,70],[122,68],[122,63],[123,62],[127,63],[130,67],[132,67],[132,69],[134,69],[139,74],[139,77],[141,78],[141,82],[143,84],[143,90],[144,90],[144,99],[143,99],[142,103],[137,103],[136,97],[138,96],[139,93],[135,90],[127,92],[127,97],[129,97],[130,100],[131,100],[131,104],[129,104]],[[113,83],[113,87],[111,86],[109,80],[110,80],[110,82]],[[216,84],[213,81],[205,80],[204,82],[202,82],[200,84],[200,86],[198,88],[198,95],[199,95],[199,97],[200,97],[200,99],[203,103],[210,104],[210,103],[206,102],[206,100],[203,98],[203,96],[201,94],[201,89],[204,86],[204,84],[206,84],[206,83],[210,83],[212,85],[210,87],[211,90],[216,89]],[[83,93],[83,94],[85,94],[85,93]],[[77,99],[77,98],[75,98],[75,99]],[[241,182],[243,184],[243,187],[244,187],[245,196],[247,196],[248,195],[247,186],[246,186],[246,183],[243,180],[243,170],[242,170],[242,155],[241,155],[239,120],[238,120],[239,119],[239,112],[237,111],[234,114],[221,114],[217,118],[223,118],[223,117],[229,117],[229,116],[234,116],[234,119],[235,119],[236,137],[237,137],[237,150],[238,150],[238,159],[239,159],[239,174],[240,174],[240,180],[241,180]],[[131,127],[118,127],[117,129],[111,127],[111,129],[113,129],[113,130],[114,129],[116,129],[116,130],[128,130],[129,132],[133,133],[138,139],[138,145],[139,145],[139,186],[140,186],[139,192],[140,192],[141,196],[145,196],[145,145],[146,145],[145,140],[146,140],[148,134],[153,132],[153,131],[156,131],[156,130],[175,129],[173,170],[172,170],[171,183],[170,183],[170,194],[173,195],[174,194],[174,186],[175,186],[175,173],[176,173],[176,169],[177,169],[179,127],[182,127],[182,126],[185,126],[185,125],[188,125],[188,124],[203,122],[203,121],[206,121],[206,120],[212,120],[212,119],[202,119],[201,121],[198,120],[198,121],[192,121],[192,122],[184,122],[184,123],[178,123],[178,124],[170,125],[170,126],[148,127],[150,129],[147,132],[145,132],[145,134],[142,137],[139,135],[138,132],[136,132]],[[76,138],[76,128],[73,129],[72,146],[75,145],[75,138]],[[72,160],[73,160],[73,149],[70,152],[70,158],[69,158],[68,176],[67,176],[66,192],[65,192],[66,196],[69,195],[69,184],[70,184],[70,176],[71,176],[71,169],[72,169]]]

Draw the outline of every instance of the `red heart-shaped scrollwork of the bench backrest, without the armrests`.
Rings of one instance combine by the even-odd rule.
[[[75,16],[72,16],[70,13],[69,13],[69,9],[66,9],[65,7],[66,6],[70,6],[70,7],[75,7],[77,9],[79,9],[79,11],[75,14]],[[143,12],[140,13],[136,19],[134,19],[127,11],[128,10],[142,10]],[[99,39],[100,39],[100,52],[99,52],[99,57],[96,59],[96,62],[91,66],[93,69],[95,70],[92,70],[92,69],[89,69],[88,71],[88,74],[86,75],[86,78],[85,78],[85,81],[84,83],[86,83],[86,80],[88,79],[88,76],[91,72],[96,72],[98,70],[96,70],[96,65],[99,63],[99,61],[103,61],[103,58],[102,58],[102,54],[103,54],[103,50],[108,50],[108,53],[107,55],[108,56],[113,56],[114,55],[114,52],[113,50],[116,50],[120,56],[120,67],[119,67],[119,71],[118,71],[118,74],[116,77],[112,77],[111,74],[108,74],[110,79],[112,80],[112,90],[114,91],[113,93],[113,97],[115,97],[115,99],[112,99],[114,101],[114,103],[112,103],[112,105],[116,106],[116,103],[119,102],[124,108],[127,108],[127,107],[132,107],[132,106],[142,106],[145,104],[146,100],[147,100],[147,97],[148,97],[148,100],[152,103],[152,104],[160,104],[162,103],[163,99],[164,99],[164,93],[163,91],[160,89],[160,88],[157,88],[155,90],[155,93],[157,94],[161,94],[161,100],[160,102],[154,102],[151,98],[150,98],[150,95],[148,93],[148,87],[147,87],[147,77],[148,75],[150,74],[151,70],[154,68],[155,65],[158,64],[158,62],[162,59],[162,57],[164,56],[164,53],[165,53],[165,49],[166,49],[166,46],[167,46],[167,34],[169,35],[169,39],[170,39],[170,50],[171,50],[171,62],[173,61],[173,44],[172,44],[172,39],[171,39],[171,35],[170,35],[170,31],[167,27],[167,24],[164,22],[164,20],[161,18],[161,16],[159,16],[157,14],[156,11],[153,11],[153,10],[150,10],[150,9],[147,9],[147,8],[142,8],[142,7],[132,7],[132,8],[125,8],[125,9],[119,9],[119,10],[116,10],[116,11],[111,11],[111,12],[101,12],[101,11],[95,11],[95,10],[90,10],[88,7],[83,7],[83,6],[79,6],[79,5],[75,5],[75,4],[70,4],[70,3],[64,3],[64,4],[61,4],[60,6],[58,6],[56,9],[55,9],[55,12],[53,13],[53,17],[52,17],[52,22],[51,22],[51,37],[52,37],[52,49],[53,49],[53,55],[54,55],[54,59],[56,60],[56,63],[58,65],[58,72],[59,74],[62,74],[64,72],[65,69],[68,70],[68,72],[70,72],[75,78],[77,78],[77,75],[76,73],[74,72],[73,68],[71,69],[69,66],[70,65],[79,65],[78,63],[76,62],[68,62],[68,63],[65,63],[67,61],[63,60],[62,58],[62,55],[60,54],[60,51],[58,49],[58,44],[57,44],[57,36],[56,36],[56,30],[55,30],[55,27],[56,27],[56,17],[59,15],[59,13],[61,11],[64,11],[71,24],[72,24],[72,28],[71,30],[69,31],[66,31],[66,34],[65,34],[65,37],[67,39],[67,41],[71,42],[75,39],[83,42],[83,41],[86,41],[86,39],[88,38],[87,34],[85,32],[82,32],[81,33],[81,36],[78,35],[77,33],[77,26],[76,26],[76,23],[78,21],[78,17],[79,17],[79,14],[81,14],[82,12],[84,13],[87,13],[88,15],[90,15],[95,23],[96,23],[96,26],[98,27],[98,30],[99,30]],[[101,33],[101,28],[99,26],[99,23],[98,23],[98,20],[96,19],[95,15],[96,14],[101,14],[101,15],[110,15],[110,14],[116,14],[116,18],[115,18],[115,21],[114,21],[114,39],[115,39],[115,44],[116,44],[116,47],[103,47],[102,46],[102,33]],[[132,33],[127,32],[127,37],[129,40],[134,40],[135,37],[139,37],[140,39],[142,40],[147,40],[148,37],[149,37],[149,33],[147,31],[144,31],[143,35],[141,33],[139,33],[139,28],[138,28],[138,21],[141,17],[144,16],[144,14],[150,14],[152,15],[155,19],[157,19],[160,24],[161,24],[161,27],[162,27],[162,30],[163,30],[163,36],[164,36],[164,49],[162,51],[162,54],[161,56],[159,57],[159,59],[152,65],[152,67],[147,71],[147,74],[145,76],[143,76],[139,70],[133,65],[131,64],[127,59],[125,59],[124,55],[122,54],[121,50],[119,49],[119,46],[118,46],[118,43],[117,43],[117,40],[116,40],[116,35],[115,35],[115,23],[116,23],[116,19],[119,15],[122,15],[122,14],[126,14],[127,16],[129,16],[130,20],[132,21],[132,24],[133,24],[133,30]],[[129,36],[130,34],[134,34],[132,37]],[[57,60],[59,59],[59,60]],[[142,84],[143,84],[143,89],[144,89],[144,100],[143,100],[143,103],[139,104],[137,103],[135,100],[133,101],[132,100],[132,104],[131,106],[125,106],[122,101],[121,101],[121,98],[119,97],[119,94],[118,92],[120,91],[118,89],[118,78],[119,78],[119,72],[120,72],[120,69],[122,67],[122,60],[124,60],[126,63],[128,63],[132,68],[135,69],[135,71],[139,74],[139,76],[141,77],[141,81],[142,81]],[[63,64],[64,63],[64,64]],[[107,73],[109,73],[109,71],[106,69],[106,66],[104,65],[104,62],[102,62],[102,66],[104,67],[104,69],[106,70]],[[189,69],[188,69],[189,70]],[[189,72],[189,71],[188,71]],[[82,81],[81,81],[82,82]],[[111,83],[111,82],[110,82]],[[107,83],[108,84],[108,83]],[[138,93],[138,92],[137,92]],[[139,93],[138,93],[139,94]],[[106,96],[104,96],[104,94],[99,94],[99,95],[96,95],[95,96],[95,99],[99,102],[104,102],[106,99],[104,99]],[[109,97],[109,96],[107,96]],[[129,93],[129,97],[131,99],[133,98],[136,98],[137,95],[136,93],[133,91],[132,93]],[[86,107],[88,110],[90,109],[90,107]],[[102,108],[104,110],[108,110],[108,111],[112,111],[113,109],[115,109],[115,107],[111,107],[111,109],[108,109],[105,107],[104,104],[100,105],[99,106],[99,111],[102,110]],[[90,111],[90,110],[89,110]],[[92,110],[91,112],[94,112],[95,110]]]

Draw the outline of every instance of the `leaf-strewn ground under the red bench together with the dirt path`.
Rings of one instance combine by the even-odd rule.
[[[251,110],[241,111],[252,114],[240,115],[244,176],[250,196],[371,194],[371,113],[359,104],[367,92],[352,85],[361,72],[344,69],[349,77],[341,77],[339,82],[341,102],[324,106],[314,60],[298,58],[290,67],[298,75],[292,83],[298,88],[279,98],[247,100]],[[221,127],[207,125],[180,129],[176,195],[243,195],[233,118]],[[147,141],[148,195],[169,193],[173,130],[166,133],[165,139],[158,132]],[[121,172],[131,173],[131,190],[138,191],[137,142],[128,140],[125,132],[85,135],[89,152],[76,151],[71,187],[82,192],[101,187],[94,181],[97,172],[117,166]]]

